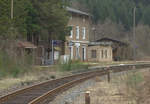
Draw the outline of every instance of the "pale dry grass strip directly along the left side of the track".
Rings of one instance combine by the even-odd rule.
[[[36,66],[34,70],[26,73],[17,78],[5,77],[0,80],[0,96],[3,93],[11,92],[17,90],[18,88],[26,87],[34,83],[39,83],[42,81],[60,78],[65,75],[69,75],[68,72],[60,72],[54,70],[52,67],[39,67]]]

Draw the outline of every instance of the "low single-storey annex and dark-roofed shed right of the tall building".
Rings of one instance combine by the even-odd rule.
[[[88,45],[88,61],[125,61],[130,58],[130,48],[127,43],[112,38],[101,38]]]

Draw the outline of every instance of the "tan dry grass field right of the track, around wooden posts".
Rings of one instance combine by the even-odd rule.
[[[113,76],[111,83],[96,78],[95,86],[87,89],[91,92],[91,104],[150,104],[149,75],[147,70],[122,73]],[[85,104],[84,94],[73,104]]]

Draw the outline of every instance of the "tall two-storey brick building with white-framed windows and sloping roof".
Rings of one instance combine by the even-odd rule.
[[[91,16],[70,7],[67,7],[67,11],[71,15],[68,22],[71,31],[66,37],[65,55],[68,55],[71,60],[87,61]]]

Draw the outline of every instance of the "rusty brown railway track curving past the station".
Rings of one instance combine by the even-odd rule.
[[[133,67],[134,66],[134,67]],[[150,67],[150,64],[128,64],[108,67],[95,67],[94,71],[76,74],[60,79],[46,81],[24,89],[20,89],[0,98],[0,104],[48,104],[60,92],[95,76],[111,72]],[[101,70],[100,70],[101,69]],[[103,69],[103,70],[102,70]]]

